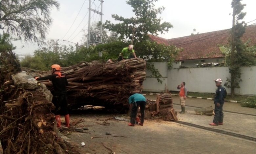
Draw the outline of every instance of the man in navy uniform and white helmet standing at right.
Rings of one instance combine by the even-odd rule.
[[[222,84],[222,79],[216,79],[215,85],[218,87],[216,89],[216,94],[214,97],[214,118],[213,118],[213,123],[210,123],[210,125],[223,125],[223,105],[224,105],[224,94],[225,94],[225,89],[224,87],[221,86]]]

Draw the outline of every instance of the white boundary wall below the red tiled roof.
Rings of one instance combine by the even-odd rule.
[[[167,63],[154,63],[162,74],[162,84],[156,78],[150,77],[151,73],[146,71],[147,77],[143,82],[143,91],[159,92],[164,91],[165,85],[169,90],[178,90],[177,86],[182,81],[186,82],[186,88],[190,92],[214,93],[216,86],[214,79],[221,78],[226,82],[230,78],[228,67],[202,67],[202,68],[180,68],[167,69]],[[256,66],[241,67],[242,75],[241,88],[236,88],[236,94],[255,95],[256,94]],[[224,83],[223,83],[224,85]],[[226,88],[230,93],[230,88]]]

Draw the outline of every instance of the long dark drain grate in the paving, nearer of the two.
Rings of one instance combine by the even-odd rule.
[[[232,132],[228,132],[228,131],[224,131],[224,130],[220,130],[220,129],[209,128],[209,127],[205,127],[205,126],[201,126],[201,125],[195,125],[195,124],[191,124],[191,123],[187,123],[187,122],[183,122],[183,121],[176,121],[176,123],[183,124],[183,125],[188,125],[188,126],[192,126],[192,127],[196,127],[196,128],[200,128],[200,129],[205,129],[205,130],[213,131],[213,132],[216,132],[216,133],[226,134],[226,135],[229,135],[229,136],[238,137],[238,138],[242,138],[242,139],[245,139],[245,140],[250,140],[250,141],[256,142],[256,138],[251,137],[251,136],[232,133]]]

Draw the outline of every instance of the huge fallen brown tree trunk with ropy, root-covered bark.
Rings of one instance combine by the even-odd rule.
[[[50,71],[22,68],[31,76],[46,76]],[[127,106],[127,99],[133,93],[140,93],[146,77],[146,62],[143,59],[127,59],[120,62],[81,62],[63,67],[69,85],[68,106],[78,108],[85,105],[121,108]],[[52,82],[39,81],[52,90]],[[118,109],[119,109],[118,108]]]

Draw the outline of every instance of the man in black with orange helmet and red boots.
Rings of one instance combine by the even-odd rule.
[[[53,113],[55,114],[55,119],[57,122],[57,127],[60,127],[60,113],[65,115],[66,126],[69,127],[69,112],[68,112],[68,102],[67,102],[67,90],[68,80],[65,75],[60,72],[61,67],[57,64],[51,66],[51,75],[45,77],[35,77],[37,81],[40,80],[50,80],[53,83],[54,93],[53,93],[53,105],[55,109]],[[60,110],[59,110],[60,107]]]

